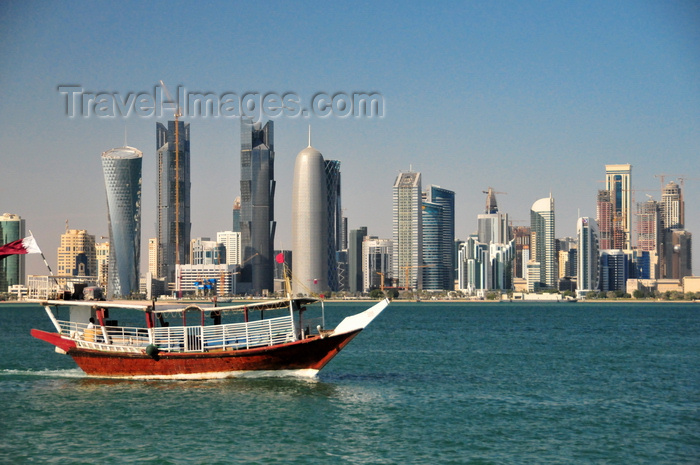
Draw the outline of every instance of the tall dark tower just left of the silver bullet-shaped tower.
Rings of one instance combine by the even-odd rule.
[[[274,123],[241,118],[241,282],[253,294],[274,289]],[[234,228],[236,231],[236,228]],[[295,266],[296,267],[296,266]]]

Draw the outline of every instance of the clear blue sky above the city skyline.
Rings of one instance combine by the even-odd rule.
[[[604,165],[631,163],[636,200],[685,176],[700,243],[700,7],[691,1],[0,3],[0,210],[27,220],[49,263],[65,221],[107,235],[100,155],[143,151],[143,235],[155,236],[155,117],[68,118],[86,91],[374,91],[382,118],[275,119],[277,248],[290,248],[296,154],[340,160],[349,226],[391,237],[399,170],[456,192],[456,235],[489,186],[527,224],[556,204],[556,234],[595,216]],[[161,118],[164,121],[166,118]],[[192,236],[231,227],[239,120],[189,118]],[[646,190],[649,189],[649,190]],[[697,245],[697,244],[696,244]],[[696,247],[697,249],[698,247]],[[695,254],[695,272],[700,260]],[[45,273],[36,256],[29,273]]]

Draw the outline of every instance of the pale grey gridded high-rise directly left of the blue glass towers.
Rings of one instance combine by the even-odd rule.
[[[398,286],[423,288],[423,214],[421,174],[399,173],[393,191],[393,274]]]

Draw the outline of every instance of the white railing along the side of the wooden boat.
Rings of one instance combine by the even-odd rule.
[[[146,328],[105,326],[89,328],[85,323],[58,320],[61,334],[76,341],[79,347],[111,352],[141,353],[153,343],[166,352],[205,352],[210,350],[239,350],[264,347],[296,339],[290,315],[211,326],[166,326],[153,328],[153,340]]]

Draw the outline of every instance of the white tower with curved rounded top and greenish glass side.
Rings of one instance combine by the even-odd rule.
[[[530,209],[530,259],[539,263],[539,285],[534,288],[556,286],[556,246],[554,242],[554,199],[540,199]]]

